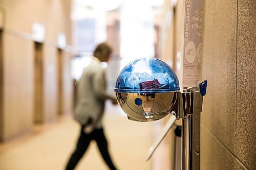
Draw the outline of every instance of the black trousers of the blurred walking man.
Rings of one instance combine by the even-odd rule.
[[[66,170],[73,170],[75,168],[76,164],[78,163],[78,161],[81,159],[81,157],[89,147],[91,140],[95,140],[97,142],[99,151],[104,161],[106,162],[106,164],[109,166],[111,170],[115,170],[116,168],[110,158],[110,154],[108,151],[108,143],[106,142],[103,129],[102,128],[95,129],[90,134],[86,134],[83,132],[83,128],[84,126],[82,126],[81,128],[81,134],[77,142],[76,150],[72,154]]]

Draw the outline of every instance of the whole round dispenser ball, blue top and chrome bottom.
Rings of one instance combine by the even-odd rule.
[[[116,98],[131,120],[147,122],[166,116],[180,90],[172,68],[155,58],[142,58],[126,65],[116,82]]]

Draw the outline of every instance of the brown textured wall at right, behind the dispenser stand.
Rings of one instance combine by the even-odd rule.
[[[255,5],[254,0],[206,1],[201,169],[256,169]],[[165,61],[176,57],[166,56],[169,38],[162,49]],[[177,38],[176,43],[180,46]]]

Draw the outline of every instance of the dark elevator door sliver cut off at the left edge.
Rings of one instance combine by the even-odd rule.
[[[3,96],[3,81],[4,81],[4,74],[3,74],[3,31],[0,29],[0,141],[3,140],[3,101],[4,101],[4,96]]]

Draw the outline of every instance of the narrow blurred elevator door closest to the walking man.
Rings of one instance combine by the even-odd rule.
[[[57,84],[58,84],[58,98],[57,98],[57,109],[58,109],[58,115],[61,115],[63,113],[63,51],[58,48],[57,52],[57,64],[58,64],[58,78],[57,78]]]

